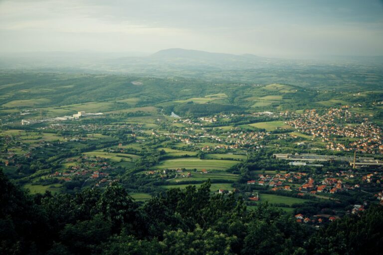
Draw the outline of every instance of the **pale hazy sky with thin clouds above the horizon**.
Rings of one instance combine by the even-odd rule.
[[[0,51],[383,55],[382,0],[0,0]]]

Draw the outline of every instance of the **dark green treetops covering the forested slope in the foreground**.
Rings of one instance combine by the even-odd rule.
[[[320,231],[267,204],[199,188],[170,189],[145,204],[114,182],[105,191],[27,195],[0,170],[0,254],[381,254],[383,208]]]

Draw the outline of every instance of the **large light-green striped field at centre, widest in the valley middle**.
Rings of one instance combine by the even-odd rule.
[[[169,169],[226,170],[237,163],[238,162],[233,160],[176,158],[163,160],[156,167]]]

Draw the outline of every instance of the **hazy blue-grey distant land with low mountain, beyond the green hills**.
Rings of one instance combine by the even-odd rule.
[[[349,73],[353,75],[358,73],[359,81],[375,84],[375,80],[365,80],[367,78],[364,73],[369,70],[374,72],[374,77],[381,79],[383,57],[322,56],[314,60],[294,60],[181,48],[160,50],[151,55],[93,52],[0,53],[1,69],[124,73],[137,76],[289,83],[302,86],[309,86],[314,82],[316,85],[326,84],[329,81],[333,84],[340,83],[336,78]],[[318,77],[322,77],[322,80]],[[349,81],[345,79],[342,82]]]

